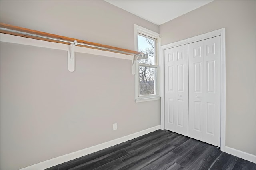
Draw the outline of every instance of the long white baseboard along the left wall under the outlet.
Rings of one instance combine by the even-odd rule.
[[[44,170],[46,168],[50,168],[52,166],[56,166],[58,164],[62,164],[64,162],[79,158],[81,156],[85,156],[85,155],[91,154],[93,152],[97,152],[99,150],[108,148],[110,146],[114,146],[116,144],[126,142],[128,140],[137,138],[137,137],[142,136],[144,134],[154,132],[155,130],[158,130],[158,129],[160,129],[160,125],[157,125],[157,126],[152,127],[152,128],[148,128],[146,130],[142,130],[140,132],[136,132],[134,134],[124,136],[122,138],[118,138],[118,139],[114,139],[114,140],[111,140],[111,141],[108,141],[108,142],[105,142],[105,143],[102,143],[102,144],[98,144],[98,145],[92,146],[90,148],[85,148],[85,149],[82,149],[82,150],[78,150],[76,152],[72,152],[70,154],[66,154],[66,155],[63,155],[63,156],[59,156],[57,158],[53,158],[53,159],[50,159],[50,160],[46,160],[44,162],[40,162],[38,164],[27,166],[27,167],[22,168],[20,170]]]

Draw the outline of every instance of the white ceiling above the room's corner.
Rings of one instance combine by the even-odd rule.
[[[160,25],[213,0],[105,0],[136,16]]]

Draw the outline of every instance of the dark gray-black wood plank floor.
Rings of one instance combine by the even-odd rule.
[[[256,170],[256,164],[216,146],[156,130],[47,170]]]

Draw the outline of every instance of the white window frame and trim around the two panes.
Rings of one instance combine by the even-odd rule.
[[[153,101],[153,100],[160,100],[160,95],[159,95],[159,57],[160,57],[160,47],[161,47],[161,39],[159,37],[159,34],[156,32],[153,32],[151,30],[148,30],[144,27],[138,26],[134,24],[134,49],[135,51],[138,51],[138,34],[142,34],[144,36],[148,36],[149,38],[154,38],[156,39],[156,47],[155,47],[155,65],[145,65],[145,67],[152,67],[156,68],[156,73],[155,73],[155,95],[141,95],[139,93],[139,64],[138,61],[135,63],[136,64],[136,73],[135,73],[135,101],[136,102],[143,102],[143,101]],[[144,64],[140,64],[140,66],[143,66]]]

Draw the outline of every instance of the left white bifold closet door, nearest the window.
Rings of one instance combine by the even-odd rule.
[[[164,50],[165,128],[188,136],[188,45]]]

